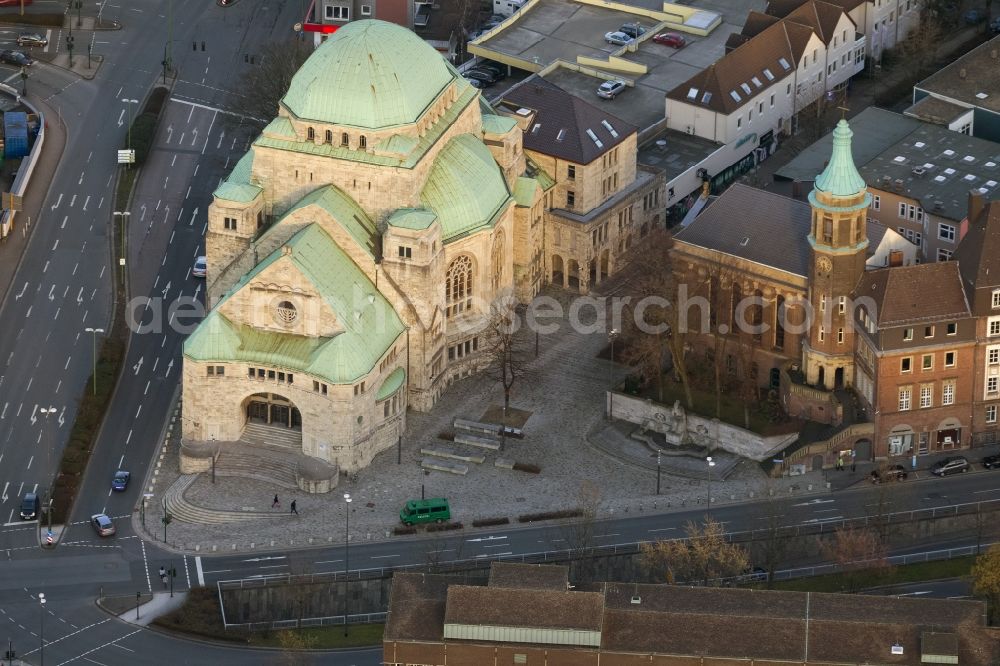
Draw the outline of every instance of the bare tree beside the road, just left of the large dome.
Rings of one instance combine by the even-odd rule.
[[[235,100],[235,105],[248,122],[263,129],[278,115],[278,103],[288,92],[292,77],[312,52],[312,48],[294,37],[270,42],[260,49],[256,64],[240,75],[237,86],[241,91],[253,91],[252,94],[236,93],[239,99]]]

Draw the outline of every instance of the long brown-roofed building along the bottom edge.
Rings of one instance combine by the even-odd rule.
[[[494,563],[493,569],[508,565]],[[1000,635],[981,601],[600,583],[498,589],[393,576],[383,663],[988,666]]]

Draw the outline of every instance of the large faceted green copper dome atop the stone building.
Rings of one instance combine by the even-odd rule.
[[[441,54],[412,31],[353,21],[309,56],[281,102],[303,120],[366,129],[406,125],[454,77]]]

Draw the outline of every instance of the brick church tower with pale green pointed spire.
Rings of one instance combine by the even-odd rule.
[[[866,220],[872,196],[854,166],[854,132],[841,119],[833,130],[830,162],[819,176],[809,204],[809,300],[812,322],[803,343],[806,381],[835,389],[854,378],[854,330],[850,296],[865,270]]]

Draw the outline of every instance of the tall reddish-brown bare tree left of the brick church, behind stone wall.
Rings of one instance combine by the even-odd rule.
[[[625,358],[656,382],[659,402],[663,402],[663,368],[670,359],[687,407],[694,409],[685,351],[687,329],[682,325],[685,315],[678,308],[680,276],[670,261],[673,245],[670,233],[657,229],[629,251],[630,270],[636,277],[630,283],[633,299],[623,322],[628,339]],[[654,297],[664,300],[657,302]]]

